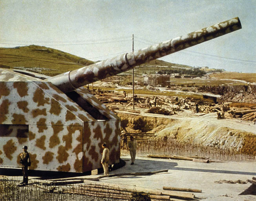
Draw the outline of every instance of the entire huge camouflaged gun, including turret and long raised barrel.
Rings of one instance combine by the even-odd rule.
[[[84,85],[241,29],[239,18],[47,77],[0,69],[0,167],[18,168],[28,146],[31,170],[88,172],[101,168],[101,144],[110,164],[120,159],[120,119]]]

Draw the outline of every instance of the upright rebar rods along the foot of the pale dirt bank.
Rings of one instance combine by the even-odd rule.
[[[170,137],[147,138],[137,140],[137,155],[146,154],[172,154],[180,156],[208,156],[211,160],[243,161],[254,160],[254,154],[244,154],[235,148],[208,147],[202,144],[177,142]],[[127,149],[121,149],[123,154],[128,154]]]

